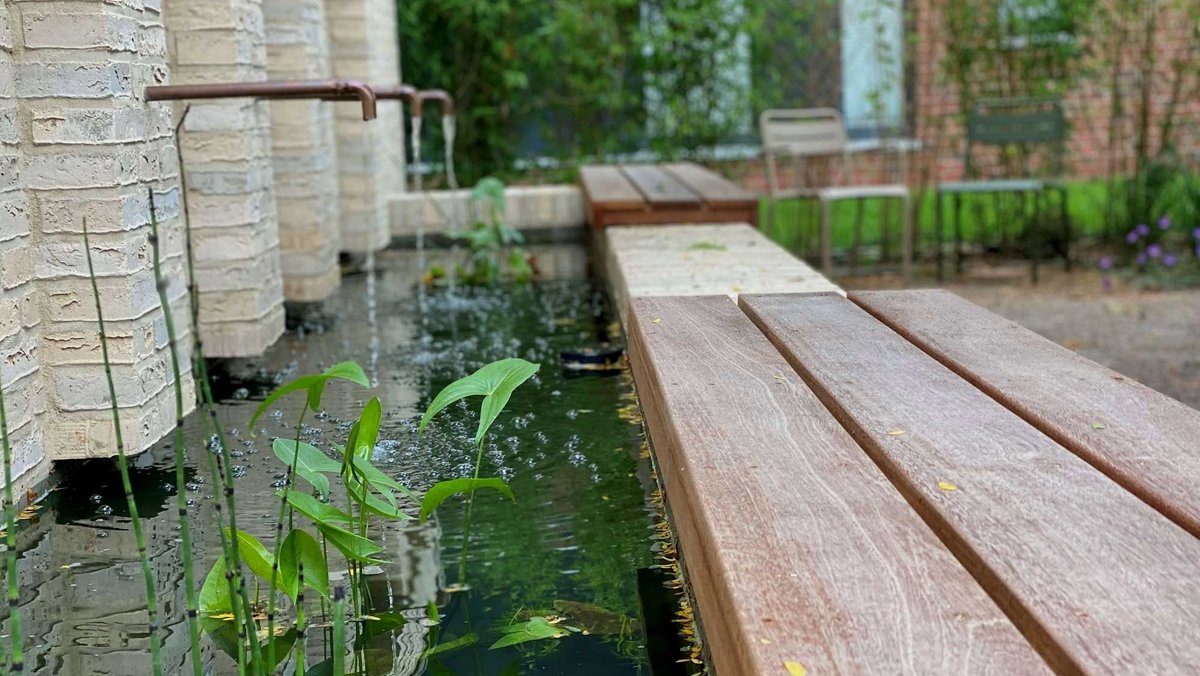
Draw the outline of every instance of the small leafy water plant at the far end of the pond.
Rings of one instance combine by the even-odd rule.
[[[457,267],[458,280],[474,286],[528,282],[534,275],[533,258],[521,247],[524,235],[504,225],[504,183],[487,177],[470,191],[470,199],[484,210],[484,219],[468,231],[450,233],[470,252],[467,263]]]

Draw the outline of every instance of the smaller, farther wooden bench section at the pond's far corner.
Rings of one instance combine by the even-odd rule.
[[[691,162],[593,164],[580,169],[588,222],[617,225],[758,223],[752,192]]]

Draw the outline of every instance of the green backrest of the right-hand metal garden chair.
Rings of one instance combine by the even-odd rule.
[[[988,98],[976,102],[967,114],[966,166],[971,168],[973,145],[1042,144],[1051,148],[1052,164],[1061,164],[1067,139],[1062,100]]]

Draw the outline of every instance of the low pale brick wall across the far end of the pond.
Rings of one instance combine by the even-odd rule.
[[[504,223],[514,228],[582,227],[583,195],[576,185],[509,187],[504,191]],[[469,228],[485,216],[469,190],[406,192],[391,199],[391,235],[443,233]]]

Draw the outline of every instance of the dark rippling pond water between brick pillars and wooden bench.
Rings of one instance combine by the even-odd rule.
[[[343,279],[322,316],[311,316],[262,358],[223,365],[217,379],[221,415],[236,463],[239,527],[270,542],[283,469],[270,451],[287,436],[301,396],[282,400],[256,425],[250,417],[277,383],[335,361],[359,361],[372,390],[331,384],[324,412],[310,415],[304,437],[324,449],[344,443],[350,420],[372,395],[384,419],[374,463],[416,490],[469,475],[476,419],[451,406],[421,437],[416,420],[442,387],[491,360],[521,357],[541,364],[492,427],[481,475],[499,475],[516,499],[480,492],[474,509],[467,580],[458,579],[463,503],[452,499],[424,525],[389,522],[374,534],[386,564],[370,578],[371,611],[389,620],[361,636],[347,663],[365,674],[647,672],[638,624],[637,570],[654,563],[648,507],[648,461],[628,373],[572,375],[559,351],[595,343],[610,330],[604,294],[575,274],[586,252],[540,251],[548,279],[532,287],[431,289],[414,283],[426,256],[388,251],[372,274]],[[472,407],[478,409],[478,399]],[[198,417],[187,419],[192,533],[202,562],[220,554],[212,490],[197,460],[209,442]],[[162,605],[163,658],[170,672],[190,670],[182,622],[182,566],[169,444],[137,457],[133,483],[145,520]],[[26,672],[149,672],[144,586],[120,479],[112,461],[65,467],[59,489],[19,528]],[[197,515],[198,512],[198,515]],[[413,509],[415,513],[415,508]],[[466,582],[466,584],[463,584]],[[463,588],[464,587],[464,588]],[[431,622],[431,604],[439,623]],[[488,650],[499,628],[530,612],[557,612],[589,632],[524,647]],[[0,629],[0,633],[6,630]],[[474,635],[475,640],[455,639]],[[434,656],[433,645],[458,645]],[[204,640],[206,669],[235,665]],[[310,664],[329,656],[310,640]],[[190,671],[188,671],[190,672]]]

